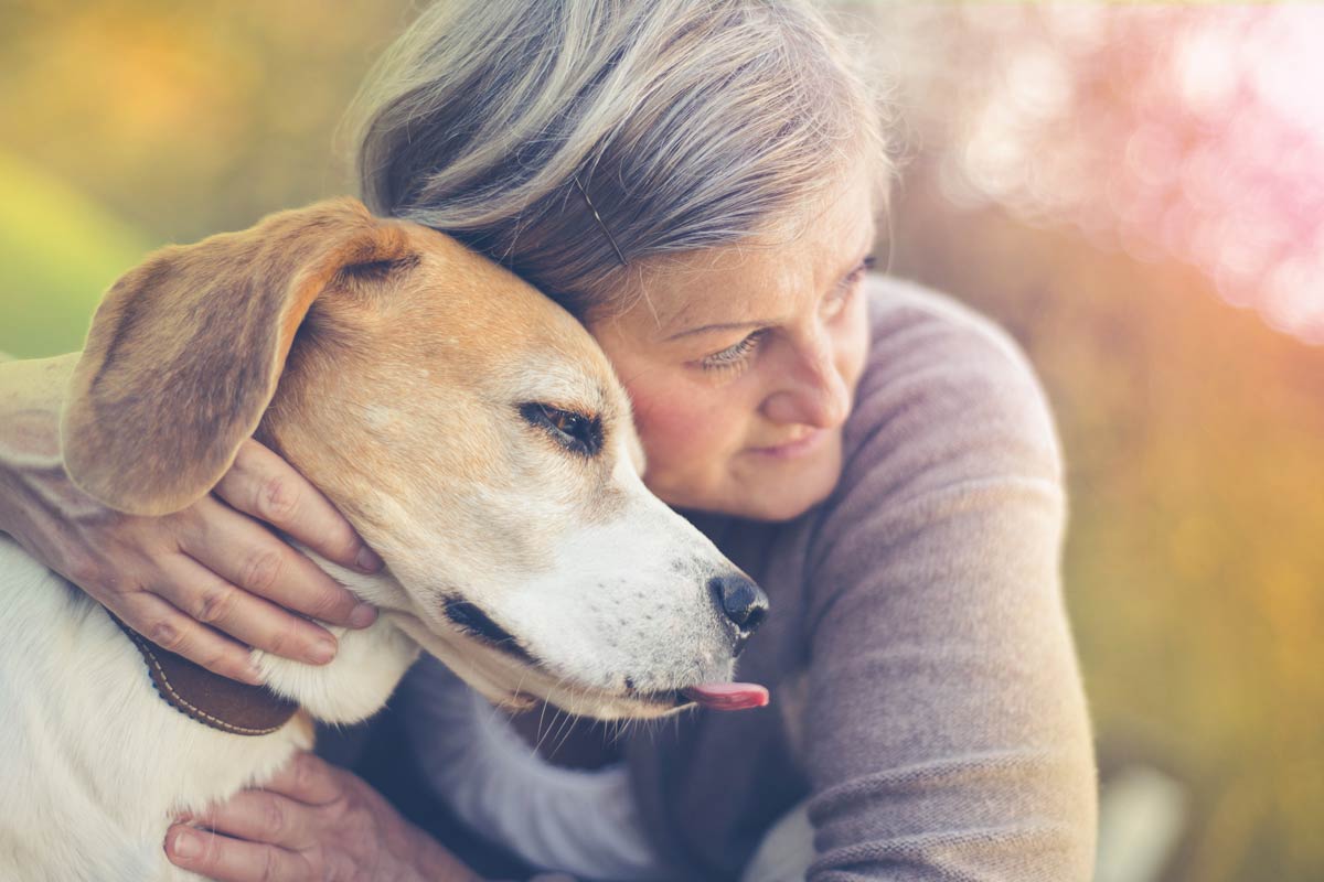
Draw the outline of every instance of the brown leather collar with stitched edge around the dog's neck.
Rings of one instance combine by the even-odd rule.
[[[107,611],[109,612],[109,611]],[[147,662],[156,693],[187,717],[232,735],[269,735],[299,710],[266,686],[250,686],[213,674],[183,656],[162,649],[114,615],[115,624]]]

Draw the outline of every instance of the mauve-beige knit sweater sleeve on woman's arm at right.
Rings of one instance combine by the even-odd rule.
[[[1047,403],[985,320],[896,315],[806,562],[809,879],[1086,881],[1095,768]]]

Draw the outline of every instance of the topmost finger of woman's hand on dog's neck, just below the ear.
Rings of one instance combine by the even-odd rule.
[[[331,501],[293,465],[253,439],[240,447],[234,465],[214,492],[328,561],[361,573],[381,569],[381,558],[359,538]]]

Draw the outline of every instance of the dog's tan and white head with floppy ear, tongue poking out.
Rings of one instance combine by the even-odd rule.
[[[169,247],[93,321],[64,418],[71,479],[179,510],[245,438],[279,450],[387,561],[387,615],[489,698],[639,717],[730,678],[757,587],[653,497],[629,402],[560,307],[354,200]]]

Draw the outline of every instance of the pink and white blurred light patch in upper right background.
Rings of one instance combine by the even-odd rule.
[[[865,5],[944,194],[1174,257],[1324,344],[1324,7]],[[935,40],[935,32],[943,38]],[[951,63],[935,65],[936,54]],[[918,57],[925,61],[915,62]]]

